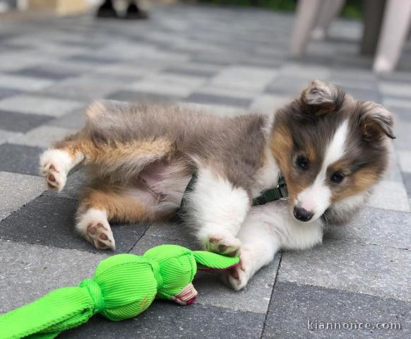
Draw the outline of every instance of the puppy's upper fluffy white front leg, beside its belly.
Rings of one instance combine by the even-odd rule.
[[[210,167],[201,168],[193,190],[186,194],[184,208],[186,222],[204,249],[229,256],[239,254],[237,234],[250,208],[245,189],[234,187]]]

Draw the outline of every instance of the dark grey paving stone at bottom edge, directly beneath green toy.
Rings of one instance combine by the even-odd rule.
[[[264,315],[191,304],[156,301],[136,319],[112,322],[95,316],[85,325],[61,334],[74,338],[260,338]]]

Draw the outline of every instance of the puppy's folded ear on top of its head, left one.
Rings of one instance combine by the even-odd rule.
[[[345,92],[338,85],[314,80],[302,91],[299,104],[306,113],[319,117],[340,109],[344,98]]]

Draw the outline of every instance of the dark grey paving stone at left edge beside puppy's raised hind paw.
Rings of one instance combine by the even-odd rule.
[[[42,148],[4,143],[0,145],[0,171],[37,175]]]

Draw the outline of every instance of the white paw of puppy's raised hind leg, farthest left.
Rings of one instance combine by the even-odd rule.
[[[46,177],[46,187],[61,191],[66,185],[71,157],[62,150],[46,150],[40,157],[40,175]]]

